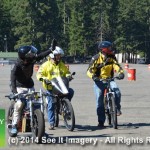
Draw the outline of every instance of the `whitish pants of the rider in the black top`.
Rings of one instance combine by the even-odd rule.
[[[34,91],[34,88],[17,87],[18,93],[27,93],[29,90]],[[23,106],[24,106],[24,102],[21,99],[18,99],[14,105],[12,125],[18,124]]]

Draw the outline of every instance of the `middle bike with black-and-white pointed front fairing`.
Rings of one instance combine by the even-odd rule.
[[[73,131],[75,127],[75,115],[72,104],[68,99],[69,94],[69,81],[73,78],[72,76],[75,75],[75,72],[72,73],[71,78],[68,79],[67,77],[57,77],[53,78],[50,81],[46,81],[45,83],[52,86],[52,94],[43,92],[43,96],[46,100],[46,110],[48,109],[48,101],[47,96],[52,96],[54,105],[55,105],[55,127],[59,125],[59,115],[62,116],[64,125],[68,131]],[[47,110],[48,111],[48,110]]]

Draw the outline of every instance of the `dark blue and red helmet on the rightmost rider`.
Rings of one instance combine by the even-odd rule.
[[[105,54],[114,55],[114,51],[112,50],[112,43],[109,41],[102,41],[98,45],[98,49]]]

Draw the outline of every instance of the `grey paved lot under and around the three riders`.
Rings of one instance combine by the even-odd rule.
[[[70,70],[76,72],[70,86],[75,95],[72,105],[76,117],[76,127],[73,132],[65,129],[63,122],[55,130],[48,130],[47,117],[46,134],[54,140],[59,138],[64,142],[60,144],[21,144],[9,145],[6,135],[7,146],[4,149],[39,150],[39,149],[149,149],[150,147],[150,70],[147,65],[129,64],[136,69],[136,81],[117,81],[122,92],[122,116],[118,117],[118,129],[107,126],[105,129],[97,128],[97,116],[95,110],[95,97],[93,82],[86,76],[88,65],[70,65]],[[124,64],[122,64],[124,68]],[[0,66],[0,109],[8,110],[9,100],[4,96],[10,92],[11,66]],[[35,79],[35,88],[39,90],[41,83]],[[7,132],[6,132],[7,133]],[[20,134],[20,136],[24,136]],[[72,138],[72,143],[69,139]],[[75,142],[75,143],[74,143]],[[74,143],[74,144],[73,144]],[[88,143],[88,144],[87,144]],[[84,146],[82,145],[84,144]],[[94,145],[95,144],[95,145]]]

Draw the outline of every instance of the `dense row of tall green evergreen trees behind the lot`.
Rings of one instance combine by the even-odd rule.
[[[150,62],[150,1],[0,0],[0,51],[31,44],[42,51],[53,38],[67,55],[93,55],[109,40]]]

